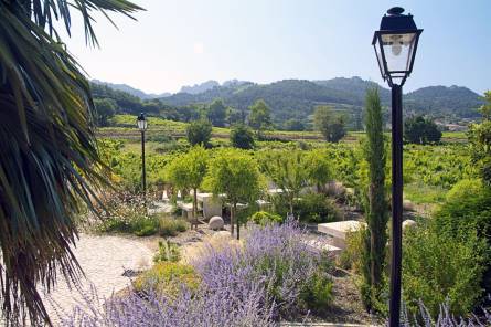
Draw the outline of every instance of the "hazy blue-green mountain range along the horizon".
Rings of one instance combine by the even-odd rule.
[[[103,82],[99,82],[103,83]],[[391,105],[391,91],[375,82],[360,77],[337,77],[323,81],[284,80],[269,84],[231,80],[220,85],[216,81],[207,81],[193,86],[183,86],[181,92],[160,96],[158,103],[146,99],[154,96],[145,94],[125,84],[103,83],[110,88],[124,91],[142,99],[141,108],[158,113],[160,108],[172,112],[175,117],[183,115],[190,106],[204,106],[215,98],[222,98],[225,105],[238,110],[248,110],[257,99],[264,99],[271,108],[274,122],[282,125],[288,119],[309,123],[316,106],[330,105],[351,117],[351,122],[360,126],[366,89],[377,87],[382,105]],[[107,94],[108,91],[99,89]],[[109,94],[110,95],[110,94]],[[121,95],[110,95],[119,98]],[[135,99],[130,101],[131,104]],[[137,101],[138,102],[138,101]],[[128,106],[128,99],[120,102]],[[461,118],[477,118],[477,108],[482,105],[479,95],[462,86],[428,86],[404,95],[405,115],[423,114],[435,118],[448,118],[458,122]],[[129,106],[128,106],[129,107]],[[135,110],[138,106],[132,105]],[[388,113],[387,113],[388,115]],[[385,115],[386,118],[388,116]]]

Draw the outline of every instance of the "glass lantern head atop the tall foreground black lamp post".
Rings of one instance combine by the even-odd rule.
[[[372,44],[382,77],[392,86],[403,85],[413,71],[419,35],[412,14],[403,14],[401,7],[392,8],[382,18]]]

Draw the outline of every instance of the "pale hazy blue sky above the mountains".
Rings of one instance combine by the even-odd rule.
[[[92,78],[146,92],[231,78],[361,76],[382,83],[371,45],[383,13],[402,6],[421,34],[405,89],[491,88],[491,0],[134,0],[138,21],[98,19],[100,49],[74,20],[68,50]]]

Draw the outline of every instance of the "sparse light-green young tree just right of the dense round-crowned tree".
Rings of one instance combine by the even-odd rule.
[[[309,170],[301,151],[268,152],[261,158],[261,169],[287,198],[290,214],[293,214],[293,202],[300,191],[309,184]]]

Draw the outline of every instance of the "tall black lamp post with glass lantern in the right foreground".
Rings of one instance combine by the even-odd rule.
[[[399,326],[403,241],[403,85],[413,71],[419,35],[412,14],[394,7],[382,18],[373,46],[384,81],[392,88],[392,257],[389,326]]]

